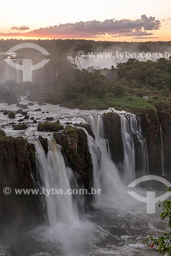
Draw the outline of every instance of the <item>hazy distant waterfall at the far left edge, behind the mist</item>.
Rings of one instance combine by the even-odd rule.
[[[22,82],[23,72],[8,65],[7,61],[0,61],[0,83],[3,83],[8,80]],[[17,65],[23,65],[23,60],[14,59],[12,61],[15,62]]]

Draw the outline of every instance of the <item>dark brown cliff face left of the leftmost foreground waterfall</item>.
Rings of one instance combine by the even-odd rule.
[[[35,188],[36,165],[35,148],[27,140],[18,137],[0,139],[0,223],[9,224],[14,220],[24,227],[38,223],[40,219],[40,200],[35,195],[16,195],[14,189]],[[11,188],[5,195],[3,189]],[[1,225],[1,226],[2,226]]]

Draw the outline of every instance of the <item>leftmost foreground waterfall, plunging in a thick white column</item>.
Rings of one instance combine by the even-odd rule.
[[[39,140],[34,142],[36,148],[37,168],[42,184],[46,189],[62,189],[63,195],[45,196],[47,216],[50,226],[57,222],[73,225],[79,221],[77,203],[72,195],[64,195],[71,188],[74,180],[71,168],[67,167],[59,146],[54,139],[48,140],[48,154]]]

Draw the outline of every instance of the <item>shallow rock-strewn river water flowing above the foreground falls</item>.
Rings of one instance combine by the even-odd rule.
[[[26,98],[20,98],[20,104],[28,104],[30,101]],[[38,102],[32,102],[34,105],[28,106],[28,109],[23,109],[23,111],[27,111],[27,114],[30,117],[34,117],[38,122],[44,122],[47,117],[53,117],[55,122],[59,120],[62,124],[66,122],[78,122],[78,118],[83,115],[91,115],[91,114],[103,114],[109,111],[115,111],[114,108],[110,108],[109,110],[79,110],[79,109],[68,109],[60,105],[52,105],[52,104],[44,104],[39,105]],[[17,107],[16,104],[8,105],[7,103],[0,103],[0,110],[7,111],[17,111],[21,109]],[[41,111],[35,111],[37,109],[41,109]],[[42,113],[43,112],[43,113]],[[47,113],[48,112],[48,113]],[[117,112],[117,111],[115,111]],[[0,127],[6,132],[8,136],[24,136],[27,138],[35,137],[40,134],[37,132],[37,124],[33,124],[32,120],[24,119],[23,122],[28,124],[28,129],[25,131],[14,131],[12,128],[12,123],[18,124],[19,119],[23,119],[24,116],[21,114],[16,114],[15,119],[10,119],[8,115],[4,115],[3,112],[0,112]],[[49,132],[41,133],[41,135],[48,136]]]

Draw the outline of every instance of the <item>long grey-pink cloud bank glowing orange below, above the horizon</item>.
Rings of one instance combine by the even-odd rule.
[[[155,17],[147,17],[145,14],[140,19],[106,19],[103,22],[91,20],[88,22],[77,22],[59,24],[58,26],[50,26],[40,28],[29,32],[17,33],[0,33],[11,36],[34,36],[34,37],[50,37],[50,38],[95,38],[103,35],[111,36],[144,36],[153,35],[152,30],[160,29],[160,20]],[[21,28],[26,28],[22,26]],[[19,30],[17,28],[17,30]]]

